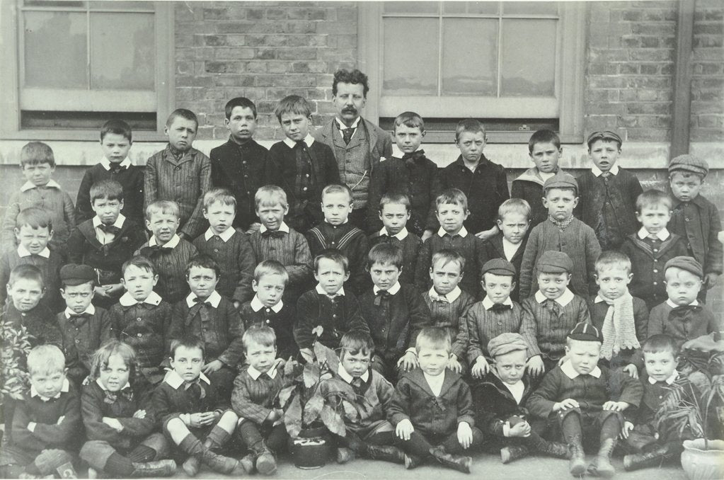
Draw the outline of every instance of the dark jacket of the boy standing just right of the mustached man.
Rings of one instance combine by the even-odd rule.
[[[369,233],[379,232],[379,201],[385,193],[402,193],[410,198],[410,219],[407,228],[415,235],[425,230],[437,230],[435,199],[442,191],[437,164],[425,156],[424,151],[413,153],[411,159],[391,157],[379,163],[370,182],[367,202],[367,228]]]

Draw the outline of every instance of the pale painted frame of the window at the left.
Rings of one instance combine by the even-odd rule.
[[[174,2],[154,1],[153,22],[156,41],[156,75],[154,93],[156,101],[156,130],[139,130],[133,132],[133,139],[137,141],[159,141],[164,140],[164,127],[168,114],[175,101],[175,59],[174,59]],[[35,9],[35,8],[33,8]],[[53,10],[48,8],[47,10]],[[134,10],[131,9],[130,12]],[[128,10],[116,9],[113,12],[124,13]],[[0,106],[0,138],[7,140],[98,140],[98,130],[88,129],[23,129],[20,124],[21,99],[20,99],[20,77],[22,55],[20,47],[22,39],[20,30],[22,8],[18,1],[0,1],[0,39],[4,48],[0,51],[0,85],[4,85]],[[58,89],[33,88],[41,96],[47,95],[54,98],[59,92]],[[139,102],[148,101],[148,93],[129,91],[129,98],[137,98]],[[80,109],[78,111],[119,111],[114,101],[106,102],[104,97],[111,95],[114,90],[86,90],[88,93],[88,104],[93,109]],[[56,105],[61,100],[54,99]],[[97,106],[96,106],[97,105]],[[41,104],[32,99],[25,100],[26,110],[42,110]],[[35,108],[38,107],[38,108]],[[125,109],[128,107],[126,106]],[[69,109],[72,111],[72,109]]]

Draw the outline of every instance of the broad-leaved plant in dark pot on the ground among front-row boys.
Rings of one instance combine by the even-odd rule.
[[[284,423],[292,439],[292,455],[298,468],[319,468],[329,456],[332,434],[345,435],[345,418],[358,418],[359,413],[346,392],[322,391],[321,382],[331,379],[340,366],[334,350],[317,341],[321,327],[314,329],[314,361],[303,366],[287,362],[285,376],[291,379],[279,391],[279,406],[284,411]]]

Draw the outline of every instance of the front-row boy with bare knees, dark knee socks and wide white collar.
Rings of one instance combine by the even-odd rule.
[[[172,371],[153,392],[151,408],[161,422],[164,435],[176,445],[188,476],[196,476],[199,464],[216,473],[240,476],[253,466],[213,450],[223,447],[234,433],[239,417],[229,408],[229,399],[219,397],[211,379],[204,375],[203,340],[195,336],[171,342]]]

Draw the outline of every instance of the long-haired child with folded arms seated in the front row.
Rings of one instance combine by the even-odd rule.
[[[80,398],[88,437],[80,458],[90,470],[119,479],[171,476],[176,463],[160,460],[169,453],[168,441],[164,434],[153,432],[156,418],[133,382],[135,367],[135,351],[118,340],[93,354],[89,382]]]

